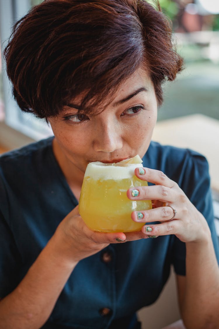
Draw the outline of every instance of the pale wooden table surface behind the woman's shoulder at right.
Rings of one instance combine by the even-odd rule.
[[[209,163],[211,187],[219,192],[219,120],[194,114],[159,121],[152,139],[203,154]]]

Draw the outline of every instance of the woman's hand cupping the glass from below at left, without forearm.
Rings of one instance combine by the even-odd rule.
[[[54,237],[56,250],[67,261],[79,262],[96,254],[110,243],[123,242],[124,233],[102,233],[90,230],[79,215],[78,206],[58,225]]]

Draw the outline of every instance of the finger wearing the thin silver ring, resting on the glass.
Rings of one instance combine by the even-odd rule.
[[[140,223],[162,222],[171,220],[173,216],[174,212],[170,207],[158,207],[150,210],[133,211],[131,213],[132,220]]]

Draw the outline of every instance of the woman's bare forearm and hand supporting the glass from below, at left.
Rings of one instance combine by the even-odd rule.
[[[41,328],[77,263],[124,233],[91,231],[73,209],[58,225],[19,285],[0,301],[0,329]],[[28,316],[27,315],[31,315]]]

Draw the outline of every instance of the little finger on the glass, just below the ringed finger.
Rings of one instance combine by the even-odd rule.
[[[165,223],[144,225],[142,232],[146,236],[160,236],[169,234],[179,234],[181,223],[179,220],[171,220]]]

